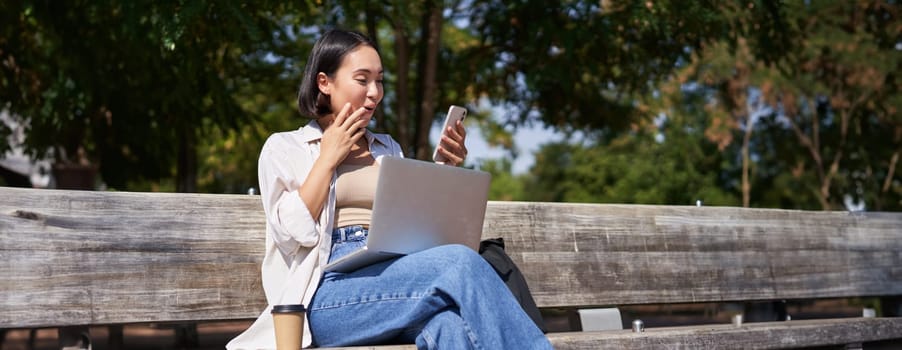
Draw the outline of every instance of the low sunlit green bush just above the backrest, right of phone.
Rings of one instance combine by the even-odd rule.
[[[729,170],[717,146],[705,140],[698,117],[675,114],[659,128],[610,142],[544,145],[531,169],[529,200],[736,205],[725,190]],[[689,115],[688,117],[692,117]]]

